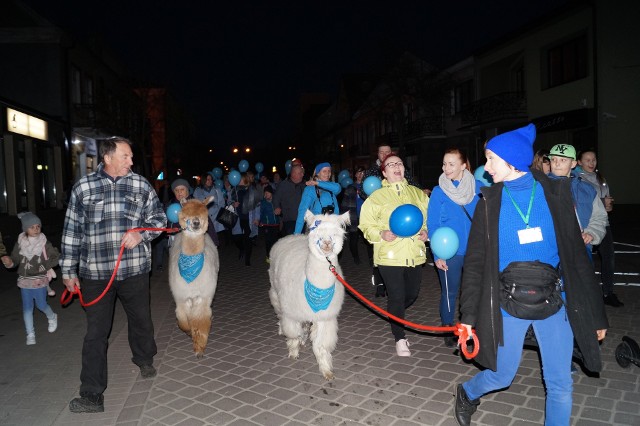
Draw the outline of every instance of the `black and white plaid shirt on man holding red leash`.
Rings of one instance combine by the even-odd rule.
[[[110,279],[127,230],[167,224],[162,203],[144,177],[130,172],[114,181],[103,167],[100,164],[73,186],[62,233],[60,267],[65,279]],[[140,234],[142,242],[122,253],[117,280],[151,270],[151,241],[160,232]]]

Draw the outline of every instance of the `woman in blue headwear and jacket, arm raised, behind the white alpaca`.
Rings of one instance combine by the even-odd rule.
[[[313,214],[339,214],[336,196],[342,190],[339,183],[331,182],[331,164],[320,163],[316,166],[311,180],[305,182],[307,187],[302,191],[302,199],[298,207],[298,218],[294,234],[301,234],[304,227],[304,214],[310,210]]]

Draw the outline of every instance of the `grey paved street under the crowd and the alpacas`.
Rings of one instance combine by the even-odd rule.
[[[38,343],[26,346],[15,276],[1,273],[0,425],[455,424],[450,415],[454,385],[477,367],[428,333],[410,332],[414,355],[397,357],[387,322],[351,297],[345,298],[340,317],[333,381],[322,378],[308,347],[300,359],[288,359],[269,304],[262,241],[258,246],[251,267],[237,260],[235,248],[221,250],[212,334],[202,359],[195,358],[189,338],[176,326],[166,275],[151,280],[159,350],[154,379],[142,379],[130,361],[126,318],[118,306],[105,412],[92,415],[72,414],[67,408],[77,396],[86,326],[79,303],[62,309],[57,298],[49,299],[59,314],[58,331],[47,333],[44,315],[36,313]],[[629,260],[620,263],[637,272],[640,262],[633,254],[625,256]],[[354,287],[372,295],[368,266],[354,265],[348,253],[342,266]],[[625,284],[634,283],[625,277]],[[59,281],[55,287],[61,289]],[[576,425],[640,424],[640,367],[622,369],[614,356],[622,336],[640,342],[640,287],[621,285],[616,291],[625,306],[607,308],[612,327],[602,345],[604,371],[600,377],[582,371],[574,376]],[[420,298],[408,310],[408,319],[437,325],[438,295],[434,270],[423,268]],[[474,424],[541,424],[543,408],[538,356],[525,350],[512,386],[484,397]]]

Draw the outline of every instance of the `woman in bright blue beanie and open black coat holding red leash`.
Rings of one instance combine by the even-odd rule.
[[[607,321],[593,267],[584,249],[568,180],[529,170],[532,124],[486,146],[482,188],[464,261],[462,326],[475,328],[485,367],[455,389],[454,417],[471,424],[480,397],[511,385],[529,327],[540,348],[546,389],[545,424],[569,425],[574,339],[583,365],[600,371],[599,340]]]

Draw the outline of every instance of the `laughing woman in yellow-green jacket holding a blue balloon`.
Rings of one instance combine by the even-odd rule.
[[[405,310],[415,302],[420,292],[422,269],[427,254],[427,229],[423,220],[420,232],[412,237],[399,237],[389,228],[389,217],[404,204],[413,204],[427,217],[429,198],[404,178],[404,164],[396,154],[389,154],[380,165],[382,188],[373,192],[362,205],[358,226],[367,241],[373,244],[373,263],[387,286],[387,311],[404,318]],[[404,327],[391,322],[398,356],[411,356]]]

